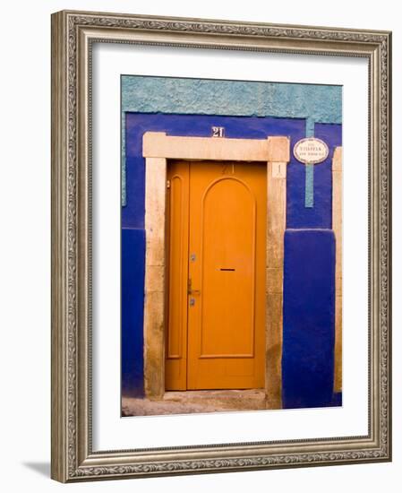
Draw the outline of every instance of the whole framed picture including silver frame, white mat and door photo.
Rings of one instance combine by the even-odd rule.
[[[391,459],[391,33],[52,15],[52,477]]]

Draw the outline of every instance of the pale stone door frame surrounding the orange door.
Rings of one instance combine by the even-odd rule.
[[[165,394],[167,160],[237,160],[267,163],[266,363],[269,407],[281,407],[283,263],[290,140],[177,137],[147,132],[145,158],[144,388],[150,399]]]

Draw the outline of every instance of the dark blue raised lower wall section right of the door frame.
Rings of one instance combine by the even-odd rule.
[[[283,406],[331,405],[335,342],[333,231],[287,229],[283,313]]]

